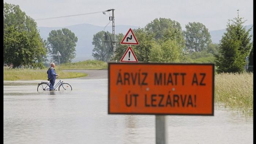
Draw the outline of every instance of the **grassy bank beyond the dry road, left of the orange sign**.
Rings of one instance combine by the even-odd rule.
[[[56,65],[56,68],[59,68]],[[69,62],[65,64],[60,64],[60,69],[107,69],[108,63],[98,60],[86,60],[79,62]]]

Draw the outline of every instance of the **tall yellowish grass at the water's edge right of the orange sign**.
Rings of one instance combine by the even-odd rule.
[[[253,73],[215,75],[215,102],[253,115]]]

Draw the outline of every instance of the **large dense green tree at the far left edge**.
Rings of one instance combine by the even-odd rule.
[[[46,52],[35,21],[19,5],[4,3],[4,62],[43,68]]]

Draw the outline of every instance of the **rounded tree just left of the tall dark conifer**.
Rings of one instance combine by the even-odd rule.
[[[199,22],[189,22],[185,27],[184,37],[187,49],[191,53],[206,50],[211,43],[211,35],[206,26]]]

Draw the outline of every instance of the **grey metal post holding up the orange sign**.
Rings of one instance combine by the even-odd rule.
[[[155,115],[155,143],[168,143],[167,116]]]

